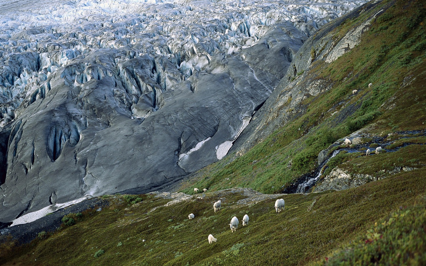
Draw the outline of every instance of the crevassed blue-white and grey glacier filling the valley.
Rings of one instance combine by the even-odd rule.
[[[0,221],[219,160],[307,36],[364,2],[2,4]]]

